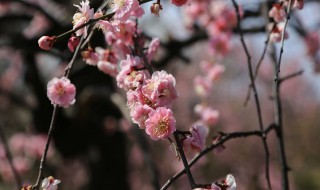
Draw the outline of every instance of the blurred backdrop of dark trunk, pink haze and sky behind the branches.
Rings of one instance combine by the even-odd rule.
[[[46,96],[47,82],[62,76],[72,57],[67,38],[50,51],[38,47],[42,35],[59,35],[72,29],[73,4],[67,0],[2,0],[0,2],[0,189],[16,189],[16,181],[6,157],[8,146],[23,184],[33,184],[46,142],[53,107]],[[102,0],[90,2],[95,10]],[[216,43],[214,28],[204,25],[204,17],[194,18],[190,5],[176,7],[161,1],[157,17],[150,13],[151,2],[143,5],[146,14],[139,27],[147,37],[159,37],[160,49],[153,62],[156,70],[165,69],[177,80],[179,98],[173,111],[177,128],[189,130],[200,116],[194,107],[205,99],[219,112],[209,126],[207,144],[219,131],[258,130],[253,96],[245,106],[249,77],[246,56],[241,46],[231,1],[212,1],[213,20],[223,16],[230,23],[227,38]],[[267,17],[275,1],[239,0],[242,27],[254,67],[259,62],[267,39]],[[217,8],[218,7],[218,8]],[[217,10],[216,10],[217,9]],[[223,10],[223,11],[221,11]],[[320,189],[320,1],[305,0],[303,10],[294,10],[285,41],[281,76],[303,70],[303,74],[281,86],[284,140],[290,166],[291,189]],[[220,11],[220,12],[219,12]],[[232,16],[233,15],[233,16]],[[232,20],[233,19],[233,20]],[[92,46],[102,46],[97,32]],[[273,59],[279,44],[270,43],[256,80],[263,124],[273,123]],[[214,55],[214,56],[213,56]],[[206,75],[204,60],[221,64],[225,70],[210,83],[207,95],[197,91],[195,79]],[[75,105],[59,109],[53,143],[48,154],[45,176],[62,180],[59,189],[159,189],[183,168],[167,141],[152,141],[144,131],[124,117],[125,92],[115,79],[86,65],[78,58],[71,72],[77,87]],[[195,86],[195,87],[194,87]],[[199,89],[199,88],[198,88]],[[269,133],[270,175],[273,189],[281,189],[281,165],[274,132]],[[230,140],[222,152],[212,152],[192,167],[196,182],[211,183],[231,173],[238,189],[262,190],[265,182],[265,154],[260,138]],[[191,159],[194,154],[188,154]],[[185,176],[169,189],[189,189]]]

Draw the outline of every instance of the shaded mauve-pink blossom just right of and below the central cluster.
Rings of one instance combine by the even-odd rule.
[[[202,151],[205,148],[206,137],[208,135],[207,127],[202,125],[192,126],[190,129],[191,136],[188,136],[183,140],[184,148],[191,149],[197,152]]]

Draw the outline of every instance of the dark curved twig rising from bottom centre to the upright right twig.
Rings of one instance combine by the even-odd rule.
[[[210,151],[214,150],[217,147],[222,146],[224,143],[228,142],[231,139],[237,139],[237,138],[246,138],[250,136],[258,136],[262,137],[267,135],[270,131],[275,129],[276,126],[274,124],[270,125],[268,128],[266,128],[264,131],[240,131],[240,132],[234,132],[234,133],[223,133],[221,136],[219,142],[212,144],[208,147],[206,147],[203,151],[201,151],[199,154],[197,154],[189,163],[189,168],[191,168],[201,157],[209,153]],[[183,174],[186,173],[185,169],[182,169],[180,172],[176,173],[174,176],[172,176],[162,187],[161,190],[165,190],[169,188],[169,186],[176,181],[179,177],[181,177]]]

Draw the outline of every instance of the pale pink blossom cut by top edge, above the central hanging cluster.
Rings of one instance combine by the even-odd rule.
[[[114,18],[126,21],[132,16],[133,12],[141,9],[138,0],[113,0]],[[139,10],[141,12],[141,10]]]

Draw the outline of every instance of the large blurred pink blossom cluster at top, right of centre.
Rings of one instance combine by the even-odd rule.
[[[209,36],[209,53],[223,56],[231,48],[232,29],[237,24],[236,12],[225,1],[192,1],[185,7],[186,24],[204,28]]]

